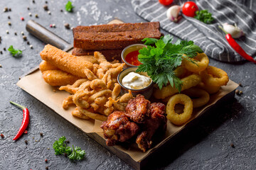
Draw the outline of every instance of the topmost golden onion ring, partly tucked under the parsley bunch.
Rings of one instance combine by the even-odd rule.
[[[208,67],[209,64],[209,59],[205,53],[198,53],[198,55],[196,55],[196,57],[191,60],[196,63],[193,63],[190,60],[183,59],[181,64],[183,67],[191,72],[202,72],[204,69],[206,69],[206,67]]]

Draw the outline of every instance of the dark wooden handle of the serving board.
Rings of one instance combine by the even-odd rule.
[[[73,47],[73,45],[70,45],[70,43],[66,42],[58,35],[55,35],[50,30],[44,28],[33,20],[30,20],[28,23],[26,23],[26,30],[28,30],[29,33],[34,35],[39,40],[45,42],[46,44],[58,47],[63,51],[70,50]]]

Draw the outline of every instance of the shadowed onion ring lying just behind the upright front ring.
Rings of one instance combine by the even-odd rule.
[[[201,106],[204,106],[206,103],[208,103],[208,101],[210,100],[210,95],[207,93],[207,91],[204,91],[196,87],[186,89],[182,91],[182,93],[186,94],[189,97],[196,97],[191,98],[193,102],[193,108],[200,108]]]

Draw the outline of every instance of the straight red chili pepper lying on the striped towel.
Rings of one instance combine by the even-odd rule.
[[[225,32],[225,30],[219,26],[219,28],[221,30],[223,30]],[[238,54],[240,54],[243,58],[245,58],[246,60],[250,61],[250,62],[254,62],[256,64],[256,61],[250,56],[248,55],[245,50],[242,49],[242,47],[238,44],[238,42],[236,42],[234,40],[234,38],[232,38],[232,35],[230,35],[229,33],[225,32],[225,38],[228,40],[228,43],[230,44],[231,47],[233,47],[233,49],[238,52]]]

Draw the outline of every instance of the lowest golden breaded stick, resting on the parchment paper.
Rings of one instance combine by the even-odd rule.
[[[73,84],[75,81],[80,79],[73,74],[63,72],[61,70],[46,70],[43,73],[43,79],[50,86],[65,86],[68,84]]]

